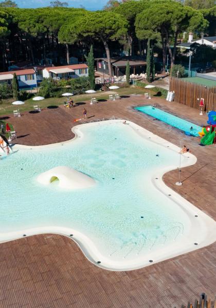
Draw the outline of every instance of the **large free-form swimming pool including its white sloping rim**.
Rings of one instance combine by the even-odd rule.
[[[178,166],[178,147],[119,120],[79,125],[74,132],[65,143],[15,145],[0,160],[0,241],[63,234],[94,264],[123,271],[215,240],[215,222],[161,180]],[[182,155],[182,166],[195,162],[191,153]],[[37,181],[57,166],[84,172],[96,185],[68,190],[58,181]]]

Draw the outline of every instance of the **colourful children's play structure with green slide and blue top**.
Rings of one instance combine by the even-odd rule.
[[[215,131],[216,131],[216,111],[210,111],[208,113],[208,126],[203,127],[202,131],[199,132],[201,145],[209,145],[216,143]]]

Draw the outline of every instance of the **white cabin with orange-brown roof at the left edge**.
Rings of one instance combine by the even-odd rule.
[[[16,73],[20,89],[29,89],[29,88],[37,87],[36,73],[34,72],[33,69],[1,72],[0,73],[0,83],[6,82],[8,85],[10,85],[13,79],[14,73]]]

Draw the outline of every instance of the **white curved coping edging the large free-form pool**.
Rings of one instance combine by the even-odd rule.
[[[81,124],[78,125],[76,127],[74,127],[72,130],[75,133],[75,138],[71,139],[69,141],[66,142],[61,142],[61,143],[57,143],[57,144],[50,144],[50,145],[46,145],[46,147],[56,147],[58,145],[62,145],[71,141],[75,141],[78,140],[79,137],[83,136],[83,133],[80,131],[79,128],[86,126],[86,125],[101,125],[103,123],[107,124],[114,124],[114,123],[122,123],[123,120],[107,120],[107,121],[102,121],[102,122],[93,122],[93,123],[86,123],[86,124]],[[166,141],[165,139],[160,138],[159,136],[157,136],[156,134],[153,134],[152,132],[140,127],[137,124],[134,124],[133,122],[127,121],[130,124],[130,127],[132,127],[132,129],[142,138],[148,140],[148,141],[152,141],[154,143],[160,144],[161,146],[164,147],[169,147],[170,150],[173,151],[179,151],[179,148],[175,145],[173,145],[172,143]],[[39,148],[44,148],[45,146],[24,146],[24,145],[15,145],[14,149],[29,149],[32,148],[32,150],[34,149],[39,149]],[[193,156],[191,153],[187,153],[186,155],[184,155],[184,157],[187,157],[188,159],[186,160],[185,164],[182,165],[182,167],[186,167],[189,165],[193,165],[196,163],[196,158],[195,156]],[[158,171],[156,172],[156,174],[154,174],[151,178],[151,181],[154,183],[154,186],[160,190],[161,192],[163,192],[163,194],[165,194],[166,196],[169,196],[169,198],[172,198],[173,201],[180,206],[186,213],[187,215],[190,217],[190,221],[193,225],[196,225],[196,228],[203,228],[203,232],[205,233],[205,239],[202,239],[201,241],[196,241],[198,243],[198,245],[194,245],[195,242],[195,238],[196,238],[196,232],[193,232],[192,234],[192,239],[194,239],[194,241],[191,239],[190,242],[184,242],[181,243],[181,245],[179,244],[180,241],[176,242],[175,244],[173,244],[173,249],[171,253],[167,253],[166,249],[159,249],[159,255],[158,255],[158,251],[157,251],[157,255],[154,253],[149,253],[147,254],[147,257],[145,260],[143,260],[143,258],[140,258],[139,262],[136,262],[136,264],[133,264],[133,260],[128,262],[113,262],[112,264],[110,264],[110,260],[107,257],[104,257],[97,249],[97,247],[95,246],[94,242],[89,239],[88,237],[86,237],[84,234],[81,234],[80,232],[77,232],[77,230],[71,229],[71,228],[64,228],[64,227],[60,227],[60,226],[49,226],[49,227],[43,227],[43,228],[32,228],[32,229],[27,229],[27,230],[22,230],[17,232],[13,232],[13,233],[8,233],[8,234],[4,234],[4,239],[2,238],[3,236],[0,235],[0,240],[2,241],[8,241],[8,240],[13,240],[13,239],[17,239],[17,238],[21,238],[23,237],[23,235],[34,235],[34,234],[42,234],[42,233],[57,233],[57,234],[61,234],[61,235],[65,235],[65,236],[69,236],[70,234],[73,236],[69,236],[70,238],[73,238],[74,241],[80,246],[80,248],[82,249],[83,253],[85,254],[85,256],[89,259],[89,261],[91,261],[92,263],[105,268],[105,269],[110,269],[113,271],[125,271],[130,270],[130,269],[136,269],[136,268],[141,268],[150,264],[154,264],[156,262],[160,262],[162,260],[165,259],[170,259],[173,258],[175,256],[187,253],[187,252],[191,252],[195,249],[199,249],[201,247],[207,246],[211,243],[213,243],[216,240],[216,235],[215,232],[212,232],[213,230],[215,230],[215,226],[216,223],[213,219],[211,219],[209,216],[207,216],[206,214],[203,213],[203,211],[201,211],[200,209],[196,208],[193,204],[191,204],[190,202],[188,202],[186,199],[184,199],[183,197],[181,197],[180,195],[178,195],[176,192],[174,192],[171,188],[169,188],[168,186],[165,185],[165,183],[162,180],[163,175],[170,171],[175,169],[176,166],[170,166],[167,168],[163,168],[163,169],[158,169]],[[188,207],[188,208],[187,208]],[[188,213],[189,212],[189,213]],[[195,215],[197,215],[198,217],[195,217]],[[195,218],[194,218],[195,217]],[[202,219],[203,218],[203,219]],[[207,227],[207,226],[208,227]],[[7,238],[8,237],[8,238]],[[2,239],[1,239],[2,238]],[[188,245],[187,248],[185,248],[186,244]],[[181,246],[181,252],[179,252],[179,245]],[[150,260],[153,260],[153,262],[150,262]],[[101,263],[98,263],[101,262]],[[125,264],[127,263],[127,265]]]

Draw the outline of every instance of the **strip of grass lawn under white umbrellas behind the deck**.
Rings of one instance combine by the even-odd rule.
[[[128,87],[128,88],[119,88],[117,90],[115,90],[116,93],[119,93],[119,95],[129,95],[129,94],[144,94],[146,92],[147,89],[145,88],[140,88],[140,87],[136,87],[136,89],[134,87]],[[97,100],[107,100],[109,99],[109,93],[110,91],[107,92],[100,92],[97,91],[96,93],[93,94],[93,97],[96,97]],[[153,91],[151,90],[151,92],[153,93]],[[50,99],[45,99],[42,101],[32,101],[32,99],[25,101],[24,105],[19,105],[19,106],[14,106],[11,103],[14,101],[13,99],[10,100],[2,100],[0,101],[0,115],[7,115],[7,114],[11,114],[13,113],[13,110],[18,109],[17,107],[19,107],[20,112],[24,112],[24,111],[31,111],[33,110],[33,105],[40,105],[40,107],[46,108],[48,106],[59,106],[59,105],[63,105],[64,102],[67,99],[65,97],[62,98],[50,98]],[[78,102],[83,102],[83,101],[88,101],[91,100],[91,94],[79,94],[79,95],[74,95],[73,96],[73,101],[75,103]]]

